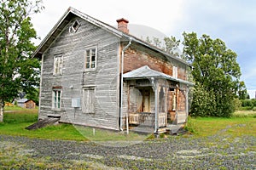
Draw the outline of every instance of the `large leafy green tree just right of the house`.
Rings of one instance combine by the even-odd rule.
[[[230,116],[235,110],[233,101],[241,76],[236,53],[227,49],[222,40],[207,35],[198,38],[195,32],[184,32],[183,37],[183,53],[194,67],[194,81],[214,94],[216,107],[209,115]]]

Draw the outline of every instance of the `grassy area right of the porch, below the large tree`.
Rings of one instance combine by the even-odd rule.
[[[189,131],[197,137],[207,137],[225,133],[234,137],[251,135],[256,137],[256,112],[236,111],[230,118],[224,117],[189,117]]]

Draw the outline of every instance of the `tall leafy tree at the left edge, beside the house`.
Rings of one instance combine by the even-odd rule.
[[[35,50],[30,15],[44,7],[41,0],[0,0],[0,122],[4,101],[19,91],[30,92],[39,82],[39,61],[30,56]]]

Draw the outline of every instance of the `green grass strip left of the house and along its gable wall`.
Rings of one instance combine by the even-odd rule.
[[[92,127],[73,126],[61,123],[55,126],[48,126],[37,130],[26,130],[33,122],[38,121],[37,111],[27,113],[27,111],[6,112],[0,123],[0,133],[15,136],[26,136],[38,139],[67,139],[77,141],[127,141],[147,139],[146,135],[137,133],[125,133],[108,131],[103,129],[93,129]]]

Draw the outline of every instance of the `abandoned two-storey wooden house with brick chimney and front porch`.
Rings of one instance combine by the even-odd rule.
[[[49,31],[32,54],[42,60],[39,119],[150,133],[186,122],[190,65],[117,22],[68,8]]]

